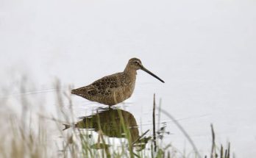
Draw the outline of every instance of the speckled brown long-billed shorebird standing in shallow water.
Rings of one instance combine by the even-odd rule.
[[[141,60],[132,58],[129,60],[123,72],[104,76],[102,79],[98,79],[88,86],[71,90],[71,93],[109,106],[121,103],[132,96],[135,88],[136,71],[138,69],[146,71],[157,79],[160,79],[146,70],[141,64]],[[163,82],[161,79],[160,81]]]

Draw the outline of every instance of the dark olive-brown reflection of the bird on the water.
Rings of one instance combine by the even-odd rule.
[[[151,139],[151,137],[141,137],[139,135],[138,125],[134,116],[122,109],[107,108],[97,112],[95,115],[81,118],[82,121],[74,124],[75,128],[93,129],[95,132],[107,137],[125,137],[128,139],[129,144],[132,145],[132,148],[136,147],[137,151],[143,150],[146,147],[146,143]],[[65,129],[69,127],[71,126],[65,125]],[[104,144],[104,146],[108,145]]]

